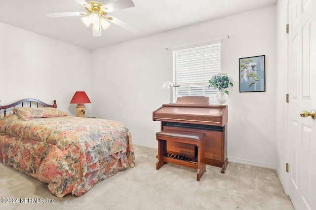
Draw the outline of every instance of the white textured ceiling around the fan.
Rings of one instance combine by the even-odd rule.
[[[113,0],[98,0],[109,2]],[[276,4],[277,0],[133,0],[135,7],[109,13],[136,28],[115,24],[92,36],[80,16],[50,18],[46,13],[86,11],[75,0],[0,0],[0,22],[89,50]]]

